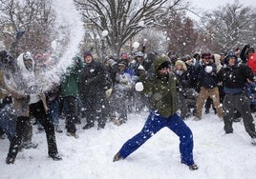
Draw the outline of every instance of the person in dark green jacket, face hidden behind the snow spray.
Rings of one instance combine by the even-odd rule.
[[[75,123],[78,121],[78,83],[80,81],[83,61],[80,57],[75,56],[73,63],[63,75],[60,86],[60,96],[63,102],[63,108],[66,115],[66,129],[68,136],[78,138],[75,133]]]

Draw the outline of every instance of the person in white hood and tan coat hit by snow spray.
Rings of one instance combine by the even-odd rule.
[[[16,134],[11,140],[6,163],[14,163],[24,137],[24,131],[30,128],[31,115],[38,119],[46,131],[49,156],[53,160],[61,160],[56,147],[53,123],[47,116],[48,108],[45,95],[35,83],[32,54],[29,51],[21,53],[17,60],[12,62],[12,65],[16,66],[13,68],[15,70],[12,73],[6,71],[5,82],[14,101],[17,120]]]

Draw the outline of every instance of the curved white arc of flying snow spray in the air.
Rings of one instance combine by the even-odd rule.
[[[75,8],[73,0],[54,0],[53,9],[56,13],[55,30],[58,31],[56,38],[52,43],[55,54],[60,54],[58,63],[51,70],[43,71],[40,79],[37,78],[37,84],[43,90],[49,89],[53,83],[59,81],[59,77],[72,64],[72,58],[77,54],[80,41],[83,39],[84,30],[81,22],[81,16]],[[66,41],[63,47],[59,42]]]

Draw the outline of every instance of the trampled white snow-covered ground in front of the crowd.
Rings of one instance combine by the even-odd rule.
[[[147,112],[129,115],[120,127],[112,122],[105,129],[81,129],[78,139],[56,133],[62,161],[48,158],[45,133],[35,133],[37,149],[18,153],[14,165],[6,165],[9,141],[0,141],[1,179],[251,179],[256,177],[256,146],[250,144],[243,122],[234,123],[234,133],[224,134],[224,124],[213,113],[203,114],[203,120],[189,118],[185,123],[194,134],[194,159],[199,169],[191,171],[181,164],[179,138],[169,129],[161,129],[141,148],[125,160],[112,162],[122,144],[142,128]],[[60,120],[64,129],[64,120]]]

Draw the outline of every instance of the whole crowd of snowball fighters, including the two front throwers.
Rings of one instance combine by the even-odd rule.
[[[48,53],[22,52],[13,58],[1,50],[0,129],[7,135],[10,149],[7,164],[13,164],[21,149],[36,148],[32,143],[32,119],[38,131],[45,131],[48,154],[61,160],[55,132],[59,119],[65,119],[68,136],[78,138],[82,129],[104,129],[107,122],[124,124],[129,112],[149,109],[145,126],[117,152],[114,161],[124,159],[161,128],[172,129],[181,139],[181,163],[198,169],[193,161],[192,131],[183,122],[189,117],[202,120],[212,110],[224,121],[225,133],[232,123],[243,119],[245,131],[256,145],[251,111],[255,106],[256,55],[246,45],[226,53],[195,53],[179,57],[174,51],[123,52],[96,60],[92,51],[76,55],[72,64],[48,90],[38,88],[42,69],[53,63]],[[3,137],[4,138],[4,137]]]

